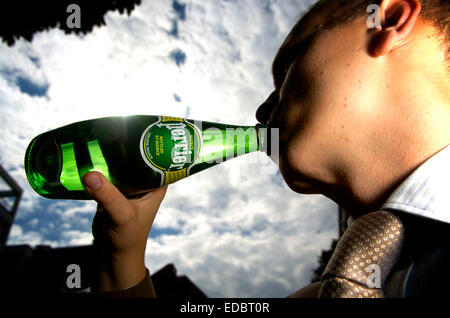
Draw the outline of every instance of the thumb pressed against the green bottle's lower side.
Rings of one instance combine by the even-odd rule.
[[[92,171],[84,175],[83,184],[92,198],[111,216],[114,223],[126,222],[133,207],[125,196],[100,172]]]

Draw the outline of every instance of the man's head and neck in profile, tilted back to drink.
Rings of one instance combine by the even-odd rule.
[[[319,1],[277,53],[275,91],[257,112],[280,128],[287,184],[355,213],[379,208],[450,136],[448,18],[436,27],[419,0],[383,0],[371,28],[370,3]],[[423,4],[431,18],[433,5],[449,12],[448,1]]]

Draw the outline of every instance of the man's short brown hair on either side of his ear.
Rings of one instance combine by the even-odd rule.
[[[422,5],[420,16],[433,24],[439,33],[446,50],[446,58],[450,58],[450,1],[449,0],[419,0]],[[334,27],[351,22],[367,13],[370,4],[380,4],[381,0],[319,0],[310,10],[320,11],[323,6],[331,5],[327,12],[328,21],[324,27]]]

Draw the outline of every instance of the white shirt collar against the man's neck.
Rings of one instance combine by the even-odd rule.
[[[417,168],[392,193],[382,209],[450,223],[450,146]]]

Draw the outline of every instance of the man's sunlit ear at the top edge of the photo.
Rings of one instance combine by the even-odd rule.
[[[401,46],[410,35],[422,6],[419,0],[383,0],[381,28],[369,40],[373,57],[383,56]]]

